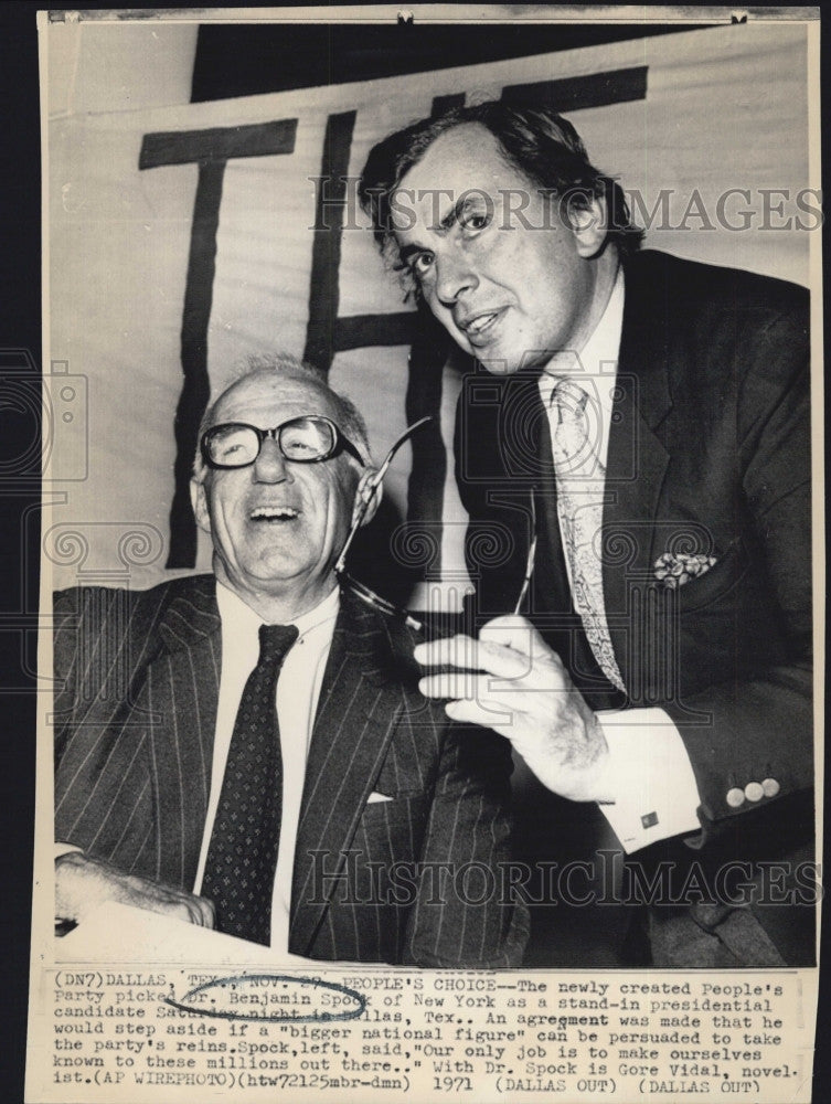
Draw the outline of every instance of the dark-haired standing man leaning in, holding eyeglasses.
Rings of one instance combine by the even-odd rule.
[[[671,860],[657,965],[811,960],[807,294],[639,252],[619,187],[547,110],[416,123],[372,150],[361,195],[490,373],[465,381],[457,480],[469,533],[512,537],[490,565],[469,542],[478,643],[416,652],[482,673],[422,689],[554,793],[601,803],[640,862]],[[494,619],[534,517],[529,619]],[[754,859],[789,861],[781,907]],[[675,896],[693,860],[703,896]]]

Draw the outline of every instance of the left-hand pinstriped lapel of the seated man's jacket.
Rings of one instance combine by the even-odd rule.
[[[149,713],[159,877],[191,889],[211,785],[222,634],[213,576],[187,582],[159,625],[162,648],[140,701]]]

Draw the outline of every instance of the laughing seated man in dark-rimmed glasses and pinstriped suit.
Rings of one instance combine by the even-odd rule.
[[[213,575],[58,598],[58,915],[115,899],[276,956],[516,964],[522,906],[480,892],[508,857],[503,742],[448,726],[416,638],[334,575],[374,471],[360,415],[283,359],[203,429]]]

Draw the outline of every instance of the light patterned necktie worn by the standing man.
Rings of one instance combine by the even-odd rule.
[[[557,427],[552,453],[557,478],[557,512],[572,573],[574,608],[600,669],[626,691],[611,647],[603,596],[600,529],[606,469],[595,454],[586,406],[588,395],[574,380],[562,380],[552,403]]]

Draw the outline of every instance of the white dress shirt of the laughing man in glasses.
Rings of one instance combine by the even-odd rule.
[[[219,582],[216,603],[222,618],[222,672],[211,767],[211,796],[202,837],[202,851],[193,884],[194,893],[199,893],[202,888],[234,722],[245,683],[257,666],[259,626],[264,624],[251,606]],[[332,593],[313,609],[295,618],[291,624],[297,626],[300,635],[284,659],[277,680],[276,709],[283,758],[283,818],[271,896],[271,949],[283,962],[307,960],[299,955],[288,953],[291,874],[306,781],[306,761],[339,607],[340,596],[335,586]]]

